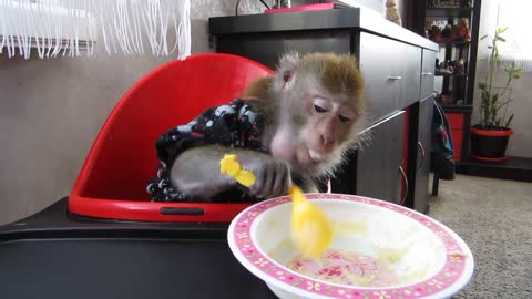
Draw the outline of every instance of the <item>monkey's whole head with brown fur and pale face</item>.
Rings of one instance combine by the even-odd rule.
[[[269,150],[296,172],[331,173],[357,141],[365,101],[355,56],[285,54],[275,76],[255,86],[248,91],[266,97],[275,115]]]

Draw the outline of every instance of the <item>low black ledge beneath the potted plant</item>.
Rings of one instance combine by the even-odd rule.
[[[499,163],[485,163],[473,158],[466,158],[457,163],[457,173],[532,182],[532,158],[510,156],[507,161]]]

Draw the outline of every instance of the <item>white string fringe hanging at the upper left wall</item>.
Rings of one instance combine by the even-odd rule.
[[[90,56],[102,44],[109,54],[184,59],[190,11],[190,0],[0,0],[0,53]]]

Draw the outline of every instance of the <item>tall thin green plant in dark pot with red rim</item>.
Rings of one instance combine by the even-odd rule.
[[[488,56],[488,72],[484,82],[479,84],[481,91],[480,102],[480,122],[470,128],[471,132],[471,156],[481,161],[504,161],[508,141],[513,131],[510,124],[513,120],[513,113],[508,109],[512,99],[513,80],[520,78],[522,69],[516,68],[514,63],[504,66],[507,75],[505,84],[498,87],[494,84],[494,75],[499,69],[499,42],[505,42],[502,33],[507,28],[498,28],[495,34],[488,47],[491,52]],[[488,35],[481,38],[485,39]]]

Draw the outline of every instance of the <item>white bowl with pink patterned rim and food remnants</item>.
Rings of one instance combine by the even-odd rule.
[[[307,194],[307,198],[335,221],[330,250],[354,255],[348,262],[334,254],[327,266],[305,262],[303,268],[327,278],[288,267],[298,255],[289,239],[288,196],[248,207],[228,229],[236,259],[279,298],[449,298],[473,274],[473,256],[466,243],[423,214],[360,196]],[[360,277],[338,280],[345,274],[339,274],[339,267]]]

